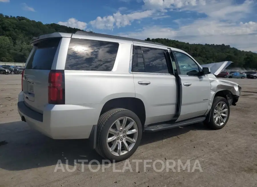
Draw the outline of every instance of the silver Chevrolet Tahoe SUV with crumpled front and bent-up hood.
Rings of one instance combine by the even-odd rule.
[[[121,161],[142,132],[204,122],[221,129],[241,87],[218,79],[231,62],[199,65],[160,43],[88,33],[35,38],[22,72],[21,120],[53,139],[89,138]]]

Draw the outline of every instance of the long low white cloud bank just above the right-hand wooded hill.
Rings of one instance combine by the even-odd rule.
[[[189,43],[226,44],[245,51],[257,52],[257,23],[228,23],[198,20],[194,23],[172,29],[169,27],[144,27],[137,32],[119,35],[136,39],[168,38]]]

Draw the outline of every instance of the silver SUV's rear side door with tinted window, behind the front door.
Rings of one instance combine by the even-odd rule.
[[[145,125],[172,120],[176,114],[176,79],[166,54],[168,50],[154,47],[134,45],[133,49],[131,71],[136,98],[145,105]]]

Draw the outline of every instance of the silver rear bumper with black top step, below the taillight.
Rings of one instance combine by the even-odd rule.
[[[97,125],[104,104],[52,105],[47,104],[43,114],[26,106],[23,92],[19,94],[18,112],[27,124],[53,139],[89,138]]]

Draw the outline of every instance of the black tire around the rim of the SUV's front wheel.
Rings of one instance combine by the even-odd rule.
[[[221,124],[221,125],[218,125],[217,123],[219,121],[217,121],[217,123],[215,123],[215,121],[214,121],[214,109],[220,103],[222,103],[222,105],[226,104],[224,109],[228,109],[228,110],[226,112],[226,117],[220,116],[220,117],[223,117],[222,118],[223,120],[226,118],[225,122],[223,124]],[[207,118],[204,121],[204,124],[207,125],[210,129],[213,129],[213,130],[222,129],[227,124],[228,119],[229,119],[229,115],[230,115],[230,106],[229,106],[228,101],[225,98],[223,98],[223,97],[215,97],[214,100],[213,100],[213,103],[212,103],[212,108],[211,108],[210,112],[208,113]],[[208,122],[209,118],[210,118],[210,121]]]

